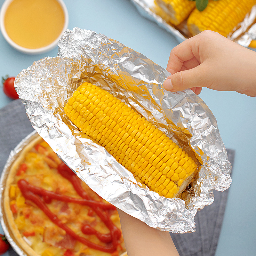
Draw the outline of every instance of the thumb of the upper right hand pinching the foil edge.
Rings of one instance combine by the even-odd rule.
[[[177,92],[193,87],[206,87],[207,80],[206,72],[200,64],[169,76],[163,86],[166,91]]]

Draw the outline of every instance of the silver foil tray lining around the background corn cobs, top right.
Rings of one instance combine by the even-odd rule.
[[[157,14],[155,0],[131,0],[132,3],[137,7],[140,14],[154,22],[156,22],[160,27],[164,28],[172,35],[176,37],[179,42],[182,42],[191,35],[189,35],[188,28],[186,26],[186,20],[182,22],[179,26],[171,26],[162,17]],[[234,32],[228,36],[232,41],[248,47],[252,40],[256,40],[256,5],[254,5],[244,20],[240,22]],[[254,24],[253,24],[254,23]]]

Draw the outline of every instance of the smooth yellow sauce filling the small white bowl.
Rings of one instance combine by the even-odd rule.
[[[38,49],[61,36],[65,14],[57,0],[13,0],[4,15],[11,40],[28,49]]]

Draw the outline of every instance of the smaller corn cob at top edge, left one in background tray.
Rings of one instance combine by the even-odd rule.
[[[160,7],[160,10],[157,9],[159,15],[176,26],[185,20],[196,6],[195,1],[189,0],[156,0],[155,3]]]

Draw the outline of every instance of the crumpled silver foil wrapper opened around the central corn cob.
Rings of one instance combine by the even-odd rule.
[[[162,84],[169,72],[102,34],[67,30],[59,41],[58,55],[34,62],[15,79],[36,131],[109,203],[153,228],[173,233],[195,231],[194,216],[213,202],[212,190],[223,191],[231,184],[231,165],[209,108],[191,90],[165,91]],[[85,81],[111,92],[199,159],[198,178],[184,200],[150,191],[68,120],[63,108]]]

